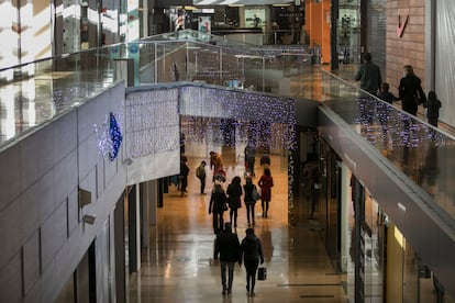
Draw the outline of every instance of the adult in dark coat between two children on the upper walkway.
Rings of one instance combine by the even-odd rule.
[[[421,80],[414,75],[414,70],[410,65],[404,66],[404,77],[400,80],[398,93],[402,100],[401,109],[407,113],[417,115],[418,103],[424,103],[426,98],[422,90]]]

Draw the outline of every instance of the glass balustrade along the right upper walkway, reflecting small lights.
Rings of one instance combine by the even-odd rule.
[[[448,164],[455,138],[330,72],[324,71],[322,77],[324,103],[426,191],[436,202],[430,206],[439,212],[437,204],[451,215],[452,220],[446,220],[453,225],[455,188],[448,184],[455,179],[455,170]]]

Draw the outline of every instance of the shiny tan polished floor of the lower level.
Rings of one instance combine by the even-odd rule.
[[[263,242],[267,280],[257,281],[256,296],[246,294],[244,267],[236,266],[231,295],[222,295],[220,263],[213,259],[212,218],[208,203],[212,184],[206,195],[199,193],[195,169],[208,161],[210,150],[222,154],[228,182],[243,176],[243,149],[235,147],[187,144],[190,176],[188,194],[184,198],[175,186],[165,194],[158,210],[151,246],[143,251],[141,271],[130,279],[130,302],[347,302],[345,276],[337,274],[321,243],[317,224],[288,224],[287,157],[271,156],[274,177],[270,211],[262,217],[256,203],[255,232]],[[255,169],[260,172],[256,157]],[[259,175],[259,173],[256,173]],[[259,176],[256,177],[257,182]],[[211,172],[208,168],[208,180]],[[229,214],[224,214],[229,220]],[[247,228],[243,205],[236,234],[240,239]]]

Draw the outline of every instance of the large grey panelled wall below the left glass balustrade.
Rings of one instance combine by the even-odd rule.
[[[126,175],[122,152],[100,156],[93,125],[111,111],[122,116],[123,101],[121,83],[1,150],[0,302],[53,302],[106,228]],[[92,193],[80,213],[78,187]]]

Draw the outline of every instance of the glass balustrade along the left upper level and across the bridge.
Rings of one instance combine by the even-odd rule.
[[[125,80],[198,81],[273,93],[311,68],[303,47],[258,47],[195,31],[162,34],[0,69],[0,146]]]

